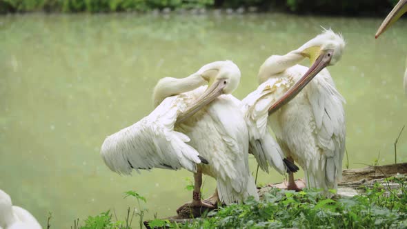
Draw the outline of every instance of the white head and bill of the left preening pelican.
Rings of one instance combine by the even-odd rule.
[[[203,66],[192,76],[201,77],[208,83],[208,88],[197,101],[178,116],[177,123],[188,119],[188,117],[194,115],[221,94],[230,94],[236,90],[237,86],[239,86],[240,70],[232,61],[215,61]]]

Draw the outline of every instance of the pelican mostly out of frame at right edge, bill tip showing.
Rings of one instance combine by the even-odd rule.
[[[395,23],[403,14],[407,12],[407,0],[400,0],[399,3],[393,8],[393,10],[387,15],[383,23],[376,32],[376,39],[384,31],[386,31],[393,23]],[[404,72],[404,92],[407,94],[407,60],[406,60],[406,72]]]

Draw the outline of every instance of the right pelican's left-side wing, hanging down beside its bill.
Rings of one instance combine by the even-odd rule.
[[[268,131],[268,108],[279,99],[277,94],[283,94],[293,83],[291,79],[286,78],[268,79],[241,101],[241,110],[244,112],[250,136],[249,151],[255,155],[260,168],[266,172],[268,165],[281,174],[286,171],[284,153]]]

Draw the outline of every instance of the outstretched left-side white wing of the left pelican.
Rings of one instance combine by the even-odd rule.
[[[197,171],[201,163],[189,137],[174,131],[177,115],[186,109],[181,95],[168,97],[150,115],[110,135],[101,146],[101,157],[113,172],[130,175],[133,169],[186,168]]]

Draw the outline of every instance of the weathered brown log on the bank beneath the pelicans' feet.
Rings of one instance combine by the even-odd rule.
[[[361,192],[361,188],[366,186],[373,186],[374,183],[383,183],[386,188],[397,188],[398,184],[386,181],[388,177],[395,177],[397,175],[407,175],[407,163],[397,163],[386,166],[368,166],[366,168],[355,168],[344,170],[342,173],[342,180],[338,183],[338,195],[342,196],[354,196]],[[273,185],[278,186],[279,183]],[[259,188],[259,195],[262,196],[268,192],[272,187],[267,186]],[[183,209],[178,215],[168,217],[163,220],[170,222],[186,223],[193,218],[200,217],[203,212],[206,212],[206,208],[192,208]],[[144,226],[150,229],[148,226],[149,221],[144,221]]]

